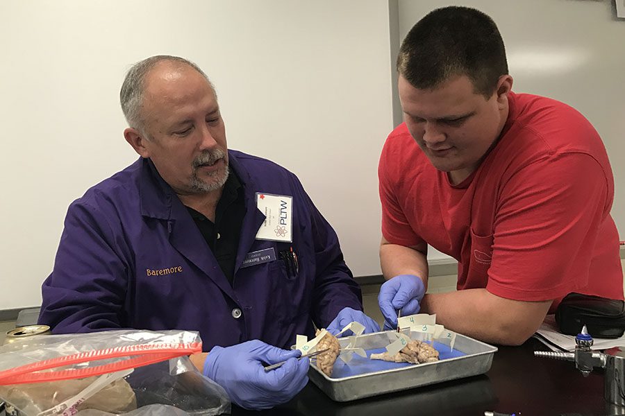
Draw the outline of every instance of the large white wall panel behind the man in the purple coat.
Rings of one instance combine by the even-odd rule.
[[[67,206],[137,157],[119,87],[160,53],[208,73],[228,145],[297,173],[354,274],[379,274],[387,1],[4,0],[0,17],[0,309],[40,304]]]

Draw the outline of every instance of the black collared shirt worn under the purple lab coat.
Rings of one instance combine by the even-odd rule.
[[[232,284],[241,227],[245,216],[243,187],[236,173],[231,169],[228,180],[224,184],[222,197],[219,198],[215,208],[215,223],[195,209],[190,207],[187,209],[208,243],[210,251],[215,255],[219,267]]]

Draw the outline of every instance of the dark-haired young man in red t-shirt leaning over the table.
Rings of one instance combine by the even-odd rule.
[[[378,175],[378,301],[402,315],[519,345],[563,297],[623,299],[614,181],[592,125],[558,101],[512,92],[503,40],[478,10],[434,10],[397,60],[404,123]],[[424,295],[427,245],[458,260],[458,291]]]

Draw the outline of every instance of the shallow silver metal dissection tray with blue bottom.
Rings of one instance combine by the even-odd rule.
[[[412,339],[421,336],[416,332],[404,333]],[[440,361],[435,363],[415,365],[368,358],[372,353],[384,352],[389,342],[387,331],[359,336],[356,347],[365,349],[367,358],[353,354],[349,363],[338,358],[331,377],[321,372],[313,361],[308,376],[331,399],[350,401],[483,374],[490,369],[497,352],[497,347],[458,333],[453,350],[449,345],[434,342],[440,354]],[[347,347],[349,338],[339,338],[339,343],[342,348]]]

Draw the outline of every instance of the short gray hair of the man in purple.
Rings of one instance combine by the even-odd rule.
[[[178,64],[192,67],[201,73],[208,85],[213,89],[213,93],[215,93],[215,86],[210,82],[206,73],[204,73],[197,64],[185,58],[172,55],[155,55],[137,62],[128,70],[128,73],[126,73],[122,89],[119,91],[119,102],[122,104],[122,112],[124,112],[128,125],[139,130],[144,136],[146,132],[144,130],[145,125],[141,114],[145,89],[144,81],[147,74],[156,67],[159,62],[177,62]],[[215,96],[217,96],[216,93]]]

